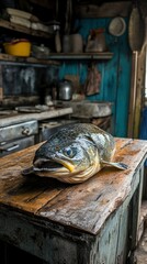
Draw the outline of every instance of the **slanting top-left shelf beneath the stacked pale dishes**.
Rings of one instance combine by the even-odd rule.
[[[50,38],[52,37],[52,34],[49,34],[49,33],[42,32],[42,31],[36,31],[36,30],[33,30],[33,29],[27,29],[26,26],[18,25],[18,24],[14,24],[12,22],[9,22],[9,21],[2,20],[2,19],[0,19],[0,28],[4,28],[4,29],[8,29],[8,30],[25,33],[25,34],[29,34],[29,35],[37,36],[37,37],[44,37],[44,38]]]

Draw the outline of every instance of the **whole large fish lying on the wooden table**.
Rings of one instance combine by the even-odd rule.
[[[61,127],[35,152],[33,173],[70,184],[82,183],[103,166],[121,169],[125,164],[113,163],[114,138],[91,123]]]

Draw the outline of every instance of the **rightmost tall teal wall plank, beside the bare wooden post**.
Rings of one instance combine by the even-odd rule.
[[[126,21],[127,23],[127,21]],[[131,87],[131,55],[127,45],[127,32],[117,40],[117,68],[115,92],[115,135],[127,134],[129,87]],[[132,136],[128,136],[132,138]]]

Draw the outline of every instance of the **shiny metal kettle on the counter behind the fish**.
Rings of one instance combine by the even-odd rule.
[[[72,99],[72,82],[70,80],[61,80],[58,84],[58,99],[69,101]]]

